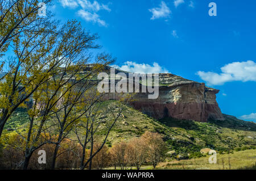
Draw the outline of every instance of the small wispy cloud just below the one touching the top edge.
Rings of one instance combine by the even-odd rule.
[[[96,14],[95,12],[91,13],[89,11],[85,10],[79,10],[77,11],[77,14],[81,16],[86,22],[93,22],[93,23],[98,23],[100,26],[108,26],[104,20],[100,19],[100,16]]]

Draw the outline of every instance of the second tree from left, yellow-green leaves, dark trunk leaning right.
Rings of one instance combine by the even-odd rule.
[[[47,61],[47,69],[44,69],[43,73],[40,73],[40,71],[34,73],[35,79],[31,79],[30,85],[27,85],[27,83],[27,86],[24,86],[24,83],[20,84],[20,89],[23,89],[23,91],[20,92],[20,96],[16,96],[16,100],[19,103],[24,102],[22,105],[28,108],[28,115],[30,116],[28,133],[26,137],[24,136],[26,140],[26,153],[23,169],[27,169],[29,159],[36,149],[46,143],[53,143],[51,136],[44,137],[49,138],[49,140],[42,140],[41,137],[42,132],[45,134],[47,130],[49,131],[49,125],[46,123],[49,121],[50,114],[56,113],[53,110],[56,110],[61,100],[64,100],[65,96],[70,95],[71,92],[75,92],[73,90],[78,84],[82,84],[82,82],[88,84],[86,79],[96,74],[102,66],[109,64],[109,61],[112,61],[110,60],[110,56],[100,54],[96,57],[96,62],[100,64],[103,62],[104,64],[100,66],[96,64],[94,66],[96,68],[91,69],[86,74],[82,74],[84,69],[88,66],[86,64],[90,61],[88,50],[98,48],[98,46],[93,43],[95,39],[96,35],[86,33],[81,28],[80,23],[72,21],[64,24],[61,28],[61,32],[57,34],[58,41],[53,49],[53,54],[46,57],[47,60],[51,60]],[[54,56],[54,54],[56,54],[56,56]],[[46,62],[44,62],[44,64],[45,63]],[[55,68],[52,68],[53,66],[55,66]],[[38,69],[37,67],[38,66],[35,68],[32,67],[31,69]],[[42,67],[40,66],[40,68]],[[51,69],[51,71],[49,71],[49,69]],[[47,74],[47,76],[45,74]],[[36,77],[41,78],[37,79]],[[8,81],[3,83],[6,84]],[[36,87],[31,87],[33,85],[36,85]],[[30,88],[32,90],[30,90]],[[17,91],[20,91],[20,89],[17,89]],[[30,96],[24,94],[24,91],[27,89]],[[24,101],[23,96],[26,98]],[[33,101],[32,104],[29,101],[30,99]],[[10,99],[6,99],[7,102],[9,102],[9,100]],[[68,99],[66,100],[68,102]],[[76,103],[78,100],[79,99],[76,99]],[[74,103],[70,100],[69,104]],[[68,104],[65,105],[67,106]],[[3,106],[5,105],[3,104]],[[8,109],[7,107],[4,110]]]

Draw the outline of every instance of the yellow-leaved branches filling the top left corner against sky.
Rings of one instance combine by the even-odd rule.
[[[47,17],[38,16],[39,2],[48,6],[52,0],[0,0],[0,56],[22,33],[51,31],[41,27],[49,27],[51,12],[47,12]]]

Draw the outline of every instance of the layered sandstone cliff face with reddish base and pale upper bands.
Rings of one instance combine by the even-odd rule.
[[[156,119],[175,119],[206,122],[209,118],[224,120],[216,102],[219,90],[204,83],[190,81],[174,74],[159,74],[159,97],[148,99],[148,93],[138,93],[132,103],[134,108]],[[119,99],[110,93],[106,99]]]

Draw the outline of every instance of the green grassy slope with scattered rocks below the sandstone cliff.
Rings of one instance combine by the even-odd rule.
[[[115,101],[107,101],[105,107],[114,103]],[[108,116],[109,118],[105,119],[104,125],[108,125],[108,119],[111,115]],[[210,120],[209,123],[171,118],[157,121],[132,107],[126,106],[123,117],[117,121],[109,134],[107,145],[112,146],[119,141],[128,141],[130,138],[141,136],[145,131],[163,134],[168,149],[175,150],[177,154],[193,153],[202,148],[227,151],[244,145],[256,145],[255,123],[238,120],[232,116],[225,117],[225,121]],[[13,131],[16,124],[16,127],[24,130],[26,120],[27,116],[24,110],[16,111],[5,128]],[[123,121],[126,121],[128,125],[123,124]],[[97,136],[99,140],[106,134],[104,125],[99,129]],[[71,135],[71,137],[75,139],[75,135]]]

